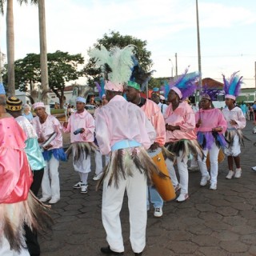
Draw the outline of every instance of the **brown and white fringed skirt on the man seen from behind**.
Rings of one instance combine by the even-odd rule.
[[[98,182],[97,189],[102,185],[106,176],[110,176],[107,186],[115,186],[118,188],[118,182],[121,179],[126,179],[134,175],[133,170],[145,174],[150,184],[152,183],[151,176],[153,173],[158,174],[159,177],[166,178],[166,176],[158,170],[158,167],[154,164],[143,147],[127,148],[115,150],[111,153],[110,162],[103,170],[103,175]]]

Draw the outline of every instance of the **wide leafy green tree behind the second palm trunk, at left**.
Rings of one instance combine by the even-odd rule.
[[[81,54],[68,54],[57,50],[53,54],[47,54],[49,87],[59,98],[60,106],[64,102],[64,89],[66,82],[76,80],[82,76],[78,65],[84,63]],[[25,58],[15,61],[16,88],[22,91],[34,90],[34,86],[41,85],[41,66],[39,54],[26,54]],[[3,75],[6,81],[7,74]],[[37,95],[38,97],[39,95]]]

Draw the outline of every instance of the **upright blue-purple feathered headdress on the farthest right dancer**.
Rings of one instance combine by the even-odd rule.
[[[225,92],[225,98],[232,98],[235,100],[235,98],[238,96],[240,93],[240,89],[242,86],[242,77],[238,76],[238,72],[234,72],[231,77],[230,81],[228,81],[225,78],[225,75],[222,74],[223,76],[223,82],[224,82],[224,92]]]

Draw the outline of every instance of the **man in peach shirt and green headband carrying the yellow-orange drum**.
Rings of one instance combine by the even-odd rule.
[[[159,106],[148,98],[142,98],[139,92],[140,85],[137,82],[129,81],[128,86],[126,87],[127,101],[134,103],[142,109],[142,111],[146,114],[146,117],[150,120],[156,131],[155,141],[148,150],[148,153],[152,158],[157,154],[162,154],[161,148],[166,143],[165,121],[163,119]],[[163,200],[158,194],[158,191],[154,188],[154,186],[149,186],[149,191],[150,202],[154,205],[154,217],[162,217]],[[148,199],[148,210],[150,210],[150,202]]]

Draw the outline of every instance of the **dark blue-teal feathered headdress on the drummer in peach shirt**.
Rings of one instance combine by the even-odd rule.
[[[134,62],[134,67],[132,68],[132,74],[130,76],[130,80],[128,81],[128,86],[134,87],[136,90],[144,91],[155,70],[145,72],[145,70],[142,70],[142,67],[139,66],[137,58],[133,56],[132,59]]]

